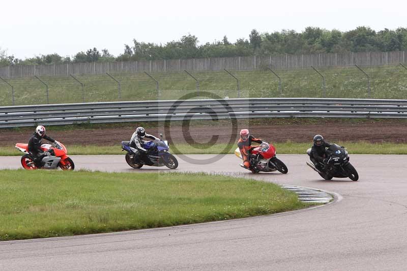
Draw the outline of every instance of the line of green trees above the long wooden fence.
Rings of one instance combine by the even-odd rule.
[[[90,48],[73,56],[63,57],[53,53],[18,59],[0,50],[0,66],[398,50],[407,50],[407,28],[385,28],[376,32],[370,27],[359,26],[341,32],[309,26],[301,33],[282,30],[260,34],[253,29],[249,39],[241,38],[234,43],[224,36],[220,41],[198,45],[198,38],[190,34],[164,45],[134,39],[132,44],[124,45],[123,53],[118,56],[110,54],[107,49],[100,52],[97,48]]]

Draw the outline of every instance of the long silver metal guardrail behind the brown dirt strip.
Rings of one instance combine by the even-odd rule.
[[[0,128],[266,117],[407,118],[407,100],[249,98],[0,107]]]

